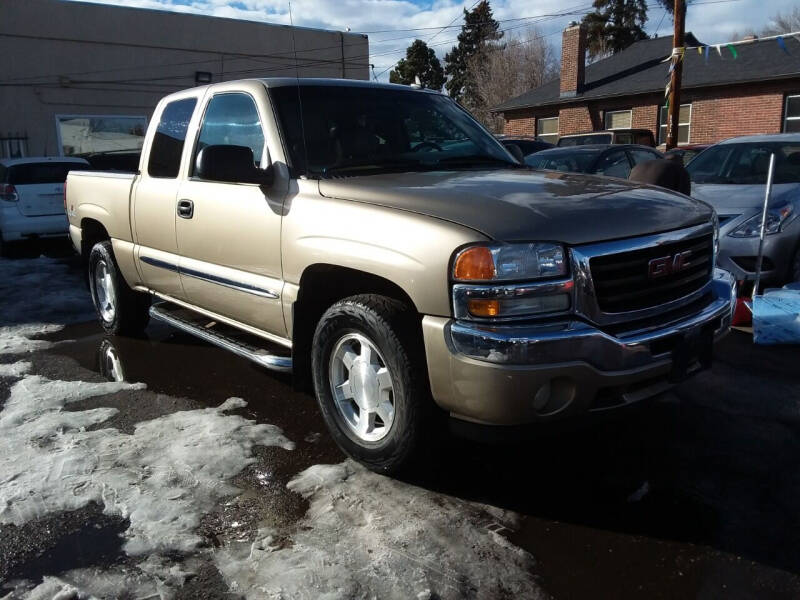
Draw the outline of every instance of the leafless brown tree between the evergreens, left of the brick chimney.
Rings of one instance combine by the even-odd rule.
[[[487,47],[468,61],[467,68],[478,102],[466,108],[494,132],[502,131],[503,117],[492,114],[492,108],[556,75],[553,48],[535,28],[502,46]]]

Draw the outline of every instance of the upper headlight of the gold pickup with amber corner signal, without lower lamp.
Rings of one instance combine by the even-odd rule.
[[[564,247],[559,244],[470,246],[453,261],[455,281],[526,281],[566,275]]]

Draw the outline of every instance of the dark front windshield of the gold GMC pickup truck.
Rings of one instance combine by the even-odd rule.
[[[455,102],[416,90],[300,85],[270,89],[293,176],[519,167]],[[303,107],[300,121],[299,105]]]

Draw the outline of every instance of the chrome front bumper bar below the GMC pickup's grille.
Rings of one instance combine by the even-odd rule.
[[[453,321],[452,349],[465,357],[496,365],[545,365],[584,362],[600,371],[635,369],[669,358],[671,341],[711,329],[728,332],[736,301],[736,282],[715,269],[711,300],[698,312],[657,327],[611,335],[583,321],[542,325],[486,325]]]

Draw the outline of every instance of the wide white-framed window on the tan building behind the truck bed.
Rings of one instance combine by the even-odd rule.
[[[57,115],[62,156],[102,152],[140,152],[147,117],[119,115]]]

